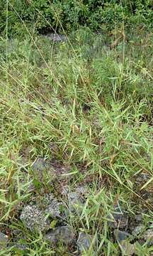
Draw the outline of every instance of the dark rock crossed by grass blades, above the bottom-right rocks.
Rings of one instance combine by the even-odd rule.
[[[108,226],[111,228],[127,228],[128,216],[125,211],[122,211],[120,207],[116,207],[111,215],[108,216]]]

